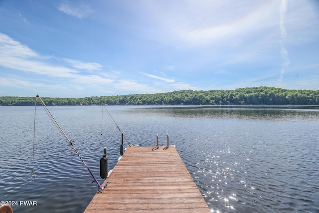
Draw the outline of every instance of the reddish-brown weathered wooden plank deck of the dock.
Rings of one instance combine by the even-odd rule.
[[[175,147],[153,149],[129,147],[85,213],[210,213]]]

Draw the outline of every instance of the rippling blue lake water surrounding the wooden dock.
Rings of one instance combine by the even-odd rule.
[[[121,133],[102,106],[48,107],[102,184]],[[319,212],[319,107],[108,106],[129,142],[176,145],[213,213]],[[103,125],[101,120],[103,118]],[[0,107],[0,201],[14,213],[83,212],[98,188],[42,106]],[[101,136],[102,132],[102,136]],[[37,206],[20,205],[36,201]]]

